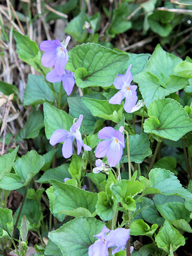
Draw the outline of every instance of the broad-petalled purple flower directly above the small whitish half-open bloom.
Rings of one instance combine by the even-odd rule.
[[[98,132],[98,138],[103,141],[99,142],[95,156],[100,158],[106,155],[109,166],[116,166],[123,155],[123,148],[125,147],[123,134],[108,126]]]

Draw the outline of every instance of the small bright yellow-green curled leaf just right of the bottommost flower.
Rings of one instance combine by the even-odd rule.
[[[158,228],[157,224],[153,224],[150,228],[150,226],[147,223],[145,223],[145,221],[134,220],[130,226],[130,235],[132,236],[145,235],[145,236],[153,237],[153,234],[155,233],[157,228]]]

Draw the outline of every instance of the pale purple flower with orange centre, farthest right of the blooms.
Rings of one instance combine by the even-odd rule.
[[[132,108],[135,106],[137,97],[137,85],[131,85],[133,75],[131,74],[131,65],[127,68],[125,75],[117,75],[114,81],[114,86],[118,91],[112,98],[110,104],[121,105],[122,100],[125,98],[124,109],[127,113],[131,113]]]

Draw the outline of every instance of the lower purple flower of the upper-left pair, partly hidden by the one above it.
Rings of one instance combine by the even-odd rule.
[[[60,76],[57,74],[56,69],[53,68],[46,75],[46,79],[50,83],[57,83],[62,81],[62,85],[67,95],[70,95],[75,85],[75,74],[67,69],[64,69],[63,74]]]

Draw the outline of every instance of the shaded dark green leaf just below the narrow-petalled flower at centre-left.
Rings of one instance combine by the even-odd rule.
[[[63,182],[65,178],[71,179],[71,175],[68,171],[69,164],[62,164],[58,167],[55,167],[53,169],[49,169],[46,172],[43,173],[41,178],[36,180],[38,183],[51,183],[51,180],[58,180],[60,182]]]

